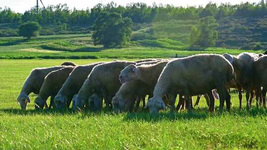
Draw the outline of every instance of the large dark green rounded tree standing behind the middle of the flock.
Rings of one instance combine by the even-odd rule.
[[[93,25],[93,42],[104,47],[122,46],[130,40],[132,27],[130,18],[123,18],[116,12],[101,13]]]

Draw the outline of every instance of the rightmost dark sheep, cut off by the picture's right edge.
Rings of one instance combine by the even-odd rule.
[[[256,102],[263,101],[263,107],[266,108],[266,90],[267,89],[267,55],[260,57],[253,63],[253,84],[256,87]],[[262,91],[263,87],[263,91]]]

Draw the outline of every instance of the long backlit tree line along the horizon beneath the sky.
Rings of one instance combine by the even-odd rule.
[[[267,15],[267,4],[240,3],[231,5],[229,3],[208,3],[203,6],[176,7],[173,5],[162,5],[153,3],[129,3],[126,6],[117,5],[114,2],[108,4],[97,4],[86,10],[70,9],[67,4],[48,5],[46,8],[32,7],[22,13],[16,13],[8,7],[0,8],[0,23],[21,24],[27,21],[35,21],[41,25],[45,24],[77,24],[92,26],[97,17],[103,13],[118,13],[122,17],[129,17],[134,23],[151,23],[168,20],[195,20],[212,16],[220,20],[226,16],[257,17]]]

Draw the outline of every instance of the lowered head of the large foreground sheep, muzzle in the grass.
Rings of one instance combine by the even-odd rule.
[[[160,97],[152,97],[148,100],[145,108],[150,109],[150,114],[157,114],[159,110],[166,111],[166,105],[164,104],[162,98]]]

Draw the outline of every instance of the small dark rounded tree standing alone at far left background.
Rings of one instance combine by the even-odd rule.
[[[28,21],[19,26],[19,35],[24,38],[37,37],[39,34],[40,25],[34,21]]]

